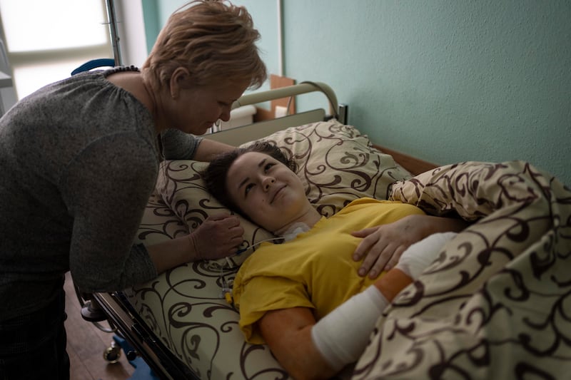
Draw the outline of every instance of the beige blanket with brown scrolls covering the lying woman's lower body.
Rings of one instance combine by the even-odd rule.
[[[353,379],[571,379],[571,190],[525,162],[468,162],[390,198],[476,222],[385,310]]]

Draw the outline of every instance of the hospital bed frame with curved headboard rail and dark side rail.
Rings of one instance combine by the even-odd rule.
[[[204,137],[231,145],[239,145],[290,126],[338,118],[339,106],[335,93],[328,85],[319,82],[304,82],[269,91],[251,93],[238,99],[233,104],[233,108],[250,104],[257,105],[258,103],[276,99],[293,98],[294,96],[315,92],[322,93],[325,96],[328,107],[315,108],[293,115],[285,115],[274,120],[264,120],[243,127],[221,130]],[[347,123],[347,120],[339,121]],[[375,148],[393,155],[403,168],[414,175],[436,166],[395,150],[389,150],[377,145],[375,145]],[[123,292],[93,294],[91,303],[89,305],[91,309],[101,309],[104,313],[98,319],[106,319],[111,325],[111,331],[126,339],[133,346],[133,351],[126,353],[128,358],[136,355],[142,356],[153,369],[153,372],[161,379],[198,379],[198,376],[193,374],[186,364],[173,357],[168,348],[157,339],[156,335],[147,327],[146,322],[141,320],[141,317],[134,311]],[[94,319],[91,318],[90,322],[94,322]]]

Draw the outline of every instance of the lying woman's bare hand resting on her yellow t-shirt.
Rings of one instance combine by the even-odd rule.
[[[408,215],[388,225],[352,232],[355,237],[363,237],[353,253],[355,261],[365,257],[359,275],[368,273],[375,278],[383,269],[393,268],[410,245],[427,236],[427,221],[425,215]]]

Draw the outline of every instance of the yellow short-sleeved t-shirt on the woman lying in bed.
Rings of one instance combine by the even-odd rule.
[[[359,242],[350,232],[424,214],[401,202],[361,198],[337,214],[322,217],[311,230],[283,244],[263,243],[243,262],[233,284],[246,341],[265,343],[256,329],[263,314],[276,309],[309,307],[316,320],[375,280],[360,277],[352,255]]]

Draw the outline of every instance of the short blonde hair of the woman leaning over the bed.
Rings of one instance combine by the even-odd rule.
[[[267,78],[256,46],[259,38],[243,6],[224,0],[191,1],[168,18],[141,72],[155,91],[168,88],[181,66],[190,73],[183,86],[233,81],[259,88]]]

